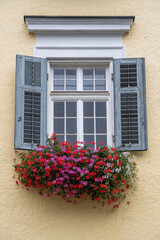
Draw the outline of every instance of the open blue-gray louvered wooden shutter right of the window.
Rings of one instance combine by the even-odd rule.
[[[113,79],[115,147],[147,150],[145,59],[115,59]]]

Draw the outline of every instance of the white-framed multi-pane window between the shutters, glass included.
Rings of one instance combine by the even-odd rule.
[[[112,145],[111,65],[112,61],[66,67],[50,63],[49,135],[56,133],[59,141]]]

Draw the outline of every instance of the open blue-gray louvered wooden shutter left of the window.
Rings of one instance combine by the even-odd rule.
[[[47,140],[47,60],[16,56],[15,149],[35,149]]]

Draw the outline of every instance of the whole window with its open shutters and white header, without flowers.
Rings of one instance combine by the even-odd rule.
[[[17,55],[15,148],[60,141],[147,149],[144,58],[125,58],[133,16],[25,16],[34,57]],[[48,74],[48,80],[47,80]]]

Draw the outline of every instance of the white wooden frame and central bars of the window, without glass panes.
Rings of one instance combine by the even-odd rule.
[[[77,91],[53,90],[53,69],[57,67],[78,67]],[[82,69],[89,67],[105,67],[107,71],[106,90],[83,91]],[[47,87],[47,131],[49,136],[53,133],[53,101],[77,101],[77,140],[83,140],[83,101],[106,101],[107,103],[107,144],[114,145],[114,108],[113,108],[113,61],[112,60],[50,60],[48,61],[48,87]],[[79,85],[78,85],[79,84]],[[78,112],[79,111],[79,112]],[[81,113],[81,114],[80,114]],[[79,117],[78,117],[79,116]]]

